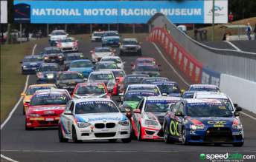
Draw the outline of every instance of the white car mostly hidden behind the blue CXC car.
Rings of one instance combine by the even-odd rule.
[[[231,98],[228,97],[223,92],[195,92],[193,93],[193,98],[206,98],[206,99],[218,99],[222,101],[227,107],[231,110],[231,112],[239,112],[242,111],[241,107],[237,107],[237,104],[233,104]],[[238,118],[238,117],[237,117]]]

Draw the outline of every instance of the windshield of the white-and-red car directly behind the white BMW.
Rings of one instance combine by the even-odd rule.
[[[92,94],[92,93],[106,93],[103,84],[97,85],[78,85],[76,92],[74,94]]]

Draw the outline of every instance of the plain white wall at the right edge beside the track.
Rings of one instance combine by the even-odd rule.
[[[233,75],[220,75],[220,90],[243,109],[256,113],[256,82]]]

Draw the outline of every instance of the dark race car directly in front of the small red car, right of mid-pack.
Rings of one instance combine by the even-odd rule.
[[[132,74],[147,74],[150,77],[159,77],[161,70],[156,67],[156,64],[137,64]]]

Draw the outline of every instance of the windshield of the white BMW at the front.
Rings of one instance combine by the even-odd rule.
[[[112,101],[87,101],[76,104],[75,114],[119,112]]]

